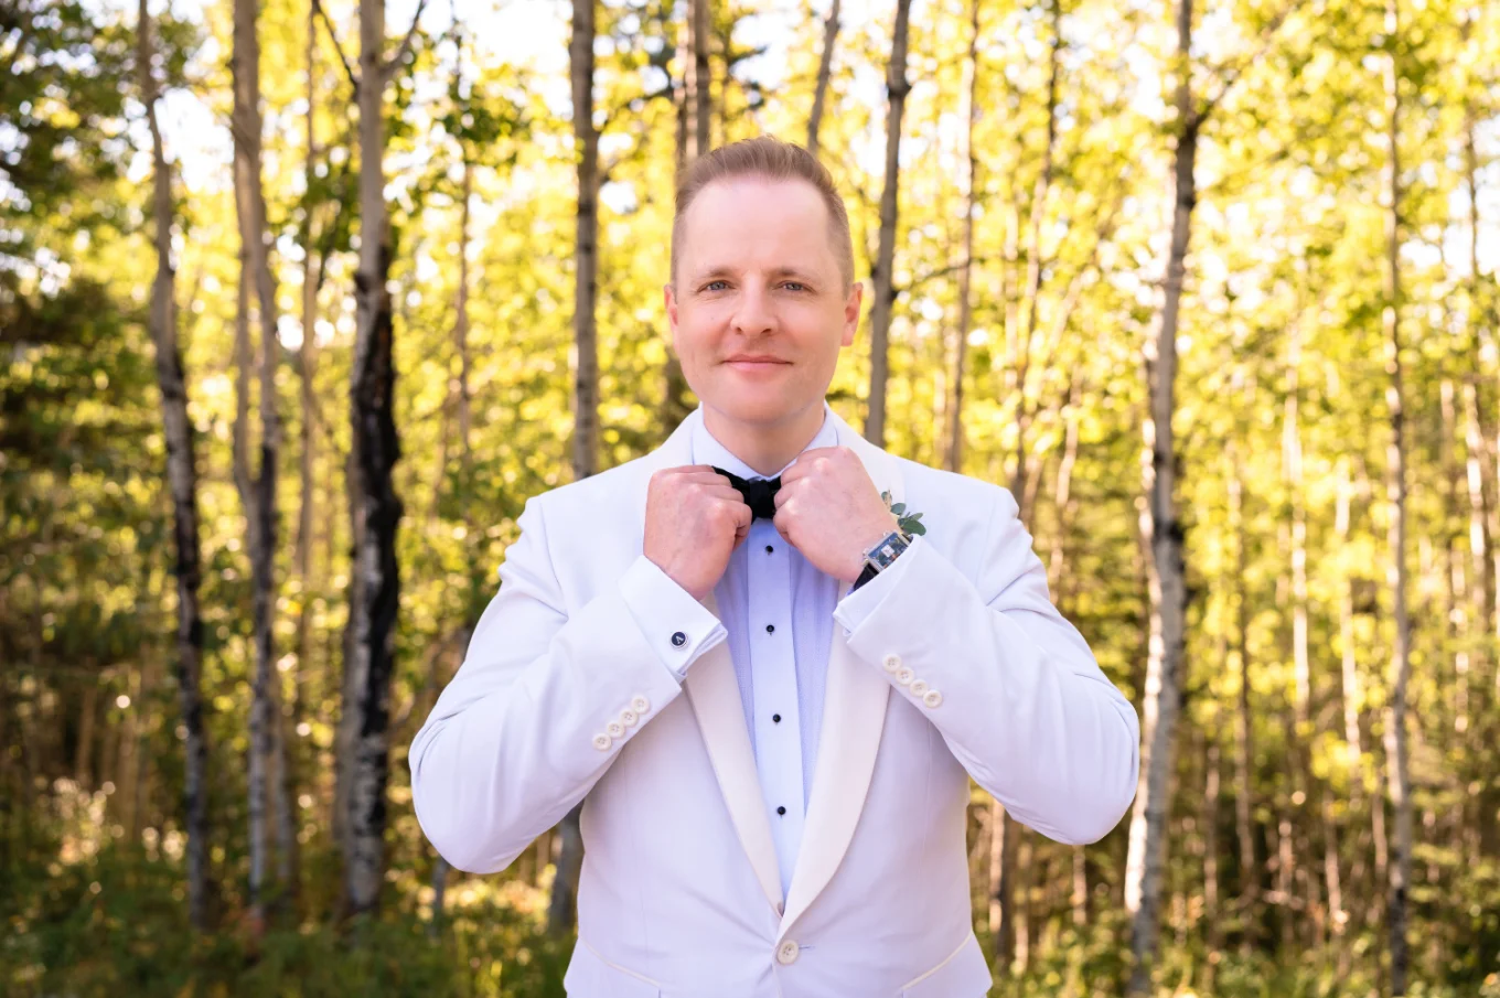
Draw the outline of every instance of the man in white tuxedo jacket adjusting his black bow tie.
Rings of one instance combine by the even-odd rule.
[[[702,405],[526,503],[412,741],[417,816],[464,870],[586,797],[574,998],[980,998],[969,777],[1072,843],[1134,795],[1136,714],[1010,492],[824,401],[861,294],[806,150],[694,162],[666,311]]]

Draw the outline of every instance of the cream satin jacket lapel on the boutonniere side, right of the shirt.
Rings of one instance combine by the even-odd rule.
[[[904,488],[897,461],[855,434],[837,414],[831,417],[838,429],[838,444],[852,449],[876,488],[890,492],[892,503],[900,503]],[[849,582],[842,582],[838,599],[843,599],[849,588]],[[860,660],[849,650],[843,627],[834,623],[832,630],[824,726],[818,738],[818,768],[813,774],[807,824],[802,828],[796,869],[788,890],[780,935],[786,935],[822,893],[849,849],[849,840],[864,810],[866,794],[870,791],[870,776],[874,773],[874,756],[880,747],[880,731],[885,726],[885,708],[891,693],[891,686],[879,669]],[[760,810],[764,813],[764,807]]]

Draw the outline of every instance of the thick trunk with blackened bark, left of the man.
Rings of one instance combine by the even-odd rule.
[[[417,18],[422,8],[417,8]],[[412,23],[416,32],[416,21]],[[396,527],[402,504],[392,470],[396,438],[394,323],[387,276],[393,254],[386,213],[386,122],[382,102],[396,62],[386,63],[382,0],[360,0],[360,261],[354,275],[354,363],[350,372],[351,458],[356,467],[354,566],[344,714],[348,723],[348,815],[345,819],[345,912],[380,905],[386,855],[386,786],[390,779],[390,678],[400,594]],[[399,59],[399,57],[398,57]]]

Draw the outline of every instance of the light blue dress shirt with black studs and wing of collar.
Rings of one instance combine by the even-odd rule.
[[[825,404],[822,429],[804,450],[837,443]],[[711,464],[742,479],[777,477],[750,468],[714,440],[702,420],[693,426],[693,464]],[[756,519],[750,536],[729,555],[714,600],[729,635],[729,657],[786,893],[818,762],[838,579],[782,540],[774,521]]]

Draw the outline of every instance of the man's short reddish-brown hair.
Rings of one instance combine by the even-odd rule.
[[[834,188],[834,179],[810,152],[770,135],[720,146],[682,171],[682,180],[676,186],[676,215],[672,218],[672,281],[676,281],[676,248],[682,242],[682,216],[687,209],[708,185],[740,177],[802,180],[813,185],[828,207],[828,236],[848,291],[854,285],[854,239],[849,236],[849,212]]]

